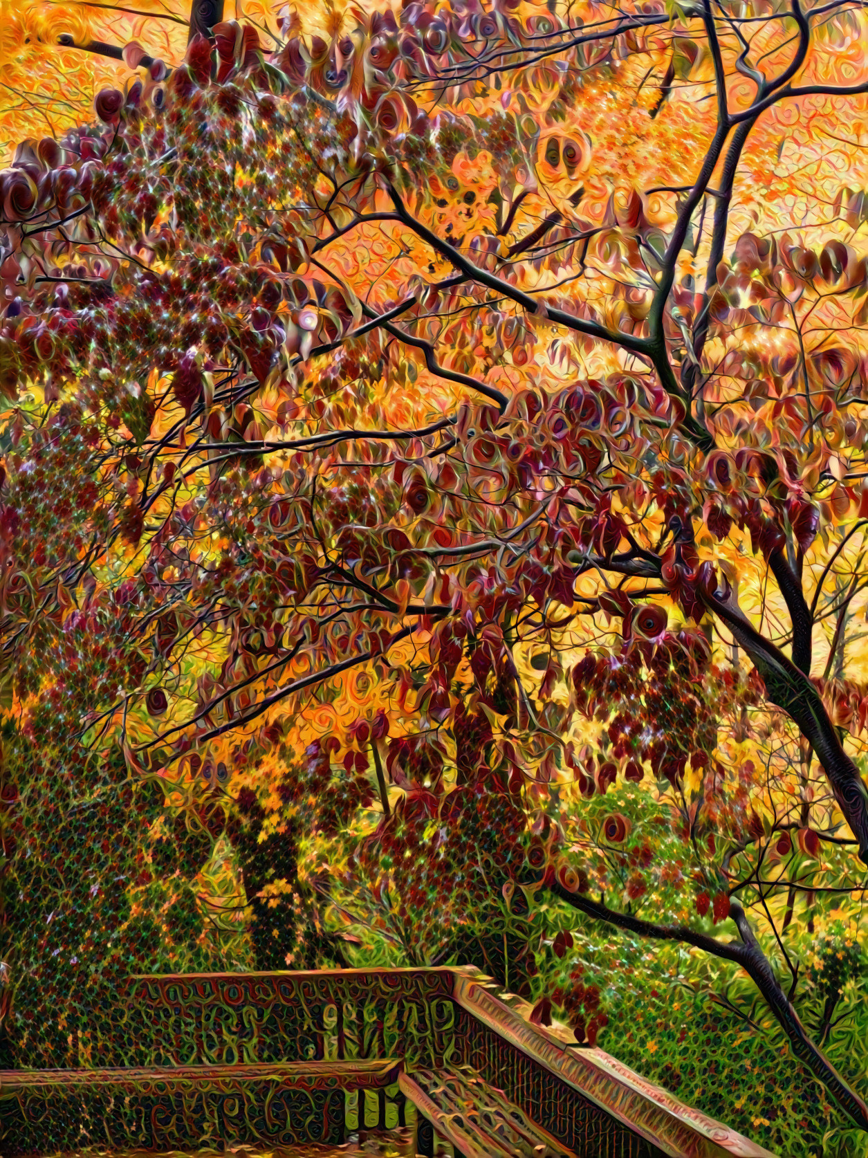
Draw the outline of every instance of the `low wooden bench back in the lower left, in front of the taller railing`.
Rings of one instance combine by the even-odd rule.
[[[86,1146],[183,1150],[346,1141],[346,1093],[397,1080],[402,1063],[293,1062],[0,1071],[3,1158]]]

